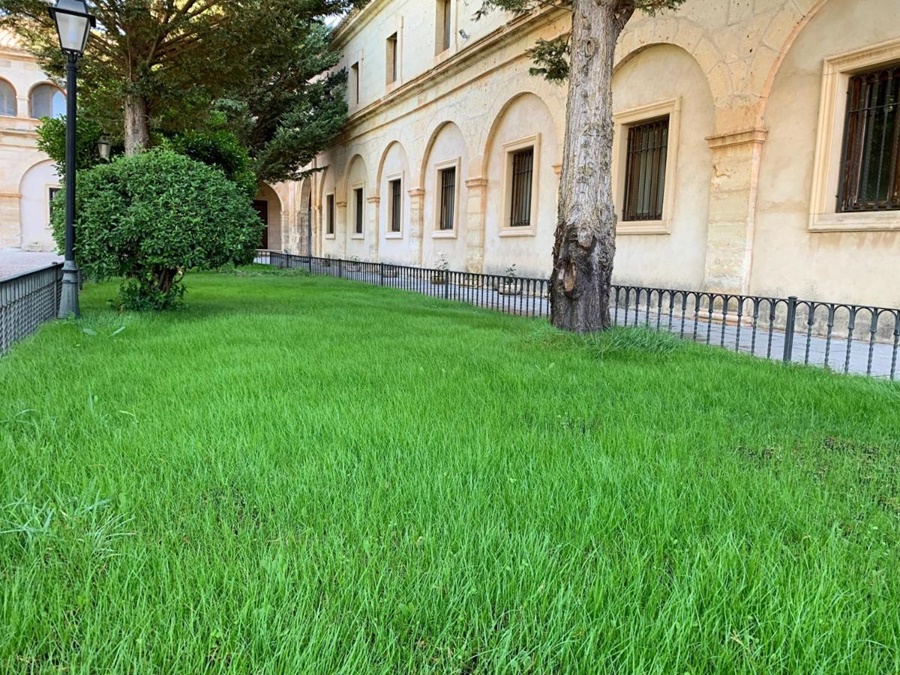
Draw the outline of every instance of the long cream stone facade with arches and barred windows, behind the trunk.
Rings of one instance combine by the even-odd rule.
[[[479,4],[342,22],[350,118],[274,187],[270,248],[549,273],[566,90],[525,51],[569,17]],[[688,0],[616,61],[618,282],[900,306],[896,0]]]

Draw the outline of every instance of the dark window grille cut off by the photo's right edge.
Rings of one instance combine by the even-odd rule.
[[[900,209],[900,64],[850,78],[839,212]]]

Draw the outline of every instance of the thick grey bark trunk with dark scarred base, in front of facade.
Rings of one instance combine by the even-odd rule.
[[[610,326],[616,252],[612,193],[612,72],[633,9],[620,0],[574,0],[566,139],[550,277],[550,320],[585,333]]]

